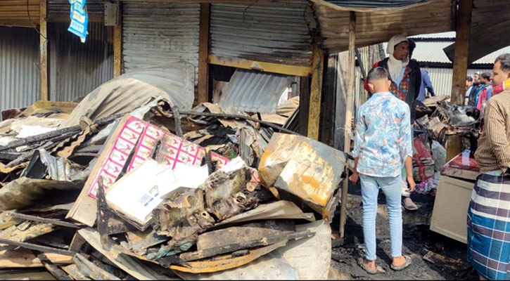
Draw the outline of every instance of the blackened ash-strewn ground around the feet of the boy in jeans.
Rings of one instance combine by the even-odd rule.
[[[466,244],[429,230],[430,218],[435,197],[430,195],[412,195],[419,206],[416,211],[404,211],[402,252],[412,258],[412,264],[402,271],[390,268],[390,232],[385,215],[385,198],[379,193],[379,208],[376,219],[377,265],[386,273],[370,275],[357,265],[357,258],[364,256],[362,232],[362,197],[359,183],[350,185],[348,219],[345,226],[343,244],[334,247],[331,266],[344,273],[350,280],[478,280],[478,275],[466,262]],[[337,211],[339,214],[339,209]],[[387,213],[386,213],[387,214]],[[338,219],[331,227],[338,233]],[[428,251],[444,258],[431,263],[423,259]]]

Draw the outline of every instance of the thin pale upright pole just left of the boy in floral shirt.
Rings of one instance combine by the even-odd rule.
[[[345,107],[345,141],[343,145],[344,152],[350,152],[350,136],[352,124],[352,106],[354,105],[354,92],[355,92],[355,31],[356,31],[356,14],[350,11],[349,16],[349,77],[347,86],[347,100]],[[342,201],[340,205],[340,237],[345,235],[345,221],[347,220],[347,191],[349,186],[348,178],[343,180],[342,187]]]

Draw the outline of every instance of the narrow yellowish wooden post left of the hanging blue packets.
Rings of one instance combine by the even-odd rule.
[[[49,100],[48,96],[48,30],[46,25],[46,0],[40,2],[39,15],[39,55],[41,66],[41,100]]]

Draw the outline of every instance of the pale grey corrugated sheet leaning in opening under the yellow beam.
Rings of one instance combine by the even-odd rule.
[[[278,100],[291,79],[281,74],[237,69],[224,87],[219,105],[274,114]]]

